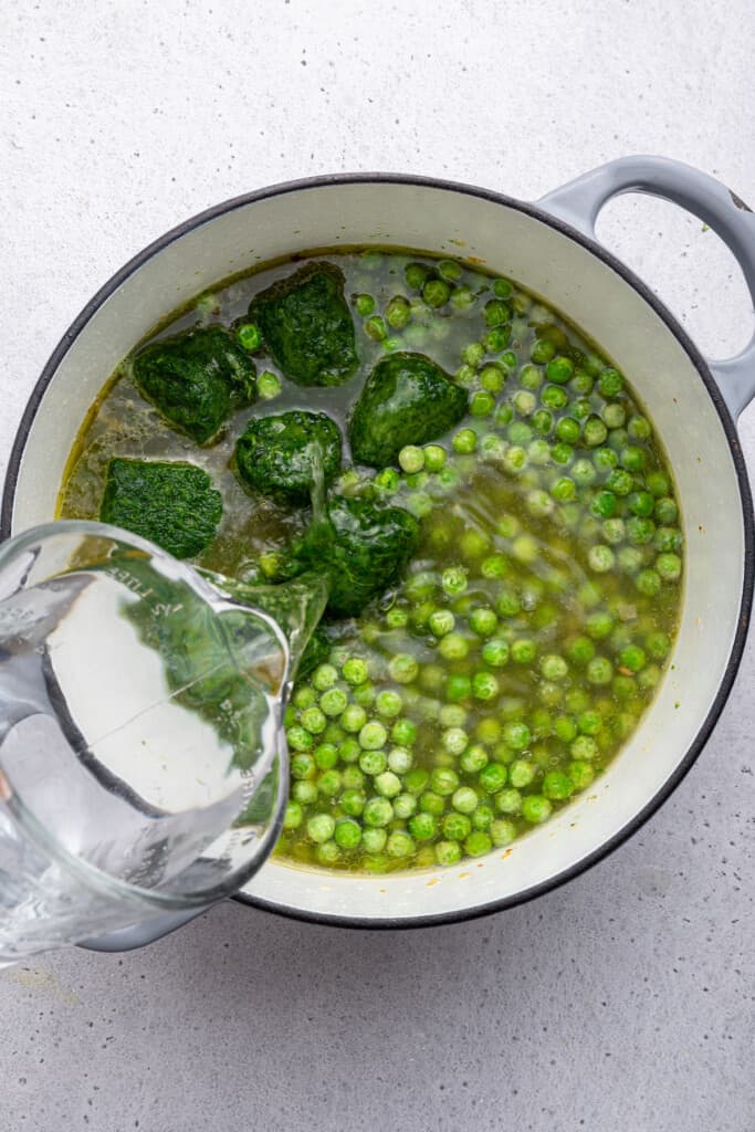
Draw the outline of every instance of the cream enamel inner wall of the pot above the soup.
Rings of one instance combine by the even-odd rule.
[[[114,366],[158,319],[231,273],[340,243],[480,257],[559,308],[614,359],[644,402],[669,454],[683,508],[686,590],[672,662],[642,724],[593,789],[509,849],[453,868],[374,877],[273,860],[246,890],[304,915],[441,916],[549,881],[630,823],[695,743],[729,659],[744,573],[741,499],[731,453],[685,350],[620,275],[547,223],[449,188],[331,183],[237,206],[153,254],[71,343],[32,422],[14,531],[52,517],[85,413]]]

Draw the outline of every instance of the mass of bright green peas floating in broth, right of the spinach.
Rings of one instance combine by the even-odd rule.
[[[455,351],[469,417],[397,468],[342,475],[342,494],[418,515],[423,541],[288,713],[281,850],[372,872],[505,850],[587,790],[662,676],[683,569],[672,482],[623,376],[506,280],[453,260],[404,278],[355,297],[364,333],[449,369]]]

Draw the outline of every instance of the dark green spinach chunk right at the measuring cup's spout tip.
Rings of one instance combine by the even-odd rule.
[[[326,571],[327,611],[354,617],[398,581],[417,549],[419,523],[402,507],[377,507],[367,499],[335,496],[327,520],[315,523],[292,547],[282,580],[306,569]]]

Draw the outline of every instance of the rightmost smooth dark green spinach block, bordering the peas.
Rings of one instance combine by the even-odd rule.
[[[351,453],[360,464],[395,464],[409,444],[436,440],[467,410],[464,389],[420,353],[394,353],[377,363],[354,405]]]

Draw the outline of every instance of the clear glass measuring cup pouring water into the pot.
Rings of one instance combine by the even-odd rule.
[[[255,873],[325,601],[317,580],[244,588],[101,523],[0,547],[0,966],[147,942]]]

